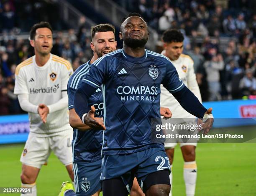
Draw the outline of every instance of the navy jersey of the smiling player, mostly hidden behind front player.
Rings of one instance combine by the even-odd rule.
[[[90,61],[77,68],[77,70],[69,78],[67,88],[69,97],[69,110],[74,108],[74,93],[77,90],[79,82],[82,80],[84,75],[89,72],[89,70]],[[97,88],[95,93],[89,98],[88,103],[89,106],[95,107],[95,117],[103,117],[103,96],[100,87]],[[84,161],[86,161],[91,163],[100,160],[103,131],[93,129],[88,131],[79,131],[78,129],[73,130],[73,162],[84,163]]]

